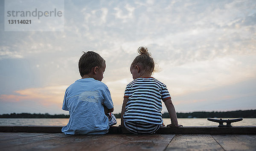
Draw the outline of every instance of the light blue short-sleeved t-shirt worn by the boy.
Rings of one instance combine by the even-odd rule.
[[[108,117],[104,106],[113,108],[108,87],[93,78],[83,78],[71,84],[65,92],[62,109],[69,111],[70,119],[62,128],[64,134],[105,134]]]

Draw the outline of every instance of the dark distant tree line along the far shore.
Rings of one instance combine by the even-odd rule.
[[[114,114],[116,118],[121,118],[121,113]],[[31,113],[11,113],[0,115],[0,118],[69,118],[70,115],[49,115],[46,114],[31,114]],[[191,112],[177,113],[178,118],[256,118],[256,110],[239,110],[229,112]],[[163,113],[163,118],[169,118],[167,112]]]

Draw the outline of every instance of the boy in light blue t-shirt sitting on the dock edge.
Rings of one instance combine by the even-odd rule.
[[[113,102],[108,87],[102,83],[106,68],[105,60],[93,51],[79,59],[81,79],[71,84],[65,92],[62,109],[69,111],[70,119],[62,128],[64,134],[105,134],[108,132],[108,117],[113,114]]]

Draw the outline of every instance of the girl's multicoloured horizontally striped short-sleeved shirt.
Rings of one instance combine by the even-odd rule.
[[[171,98],[166,85],[153,77],[139,77],[129,83],[124,98],[125,121],[162,124],[162,102]]]

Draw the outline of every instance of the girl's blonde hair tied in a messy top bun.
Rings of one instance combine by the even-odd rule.
[[[138,53],[134,61],[131,63],[131,67],[139,66],[144,74],[152,74],[154,71],[154,59],[151,57],[151,53],[148,53],[148,48],[140,46]]]

